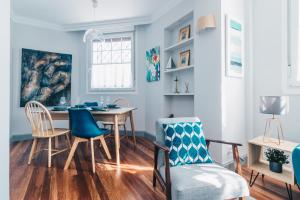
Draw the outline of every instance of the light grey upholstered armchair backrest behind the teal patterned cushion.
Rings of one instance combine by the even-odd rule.
[[[156,121],[156,141],[165,144],[165,132],[163,124],[180,123],[180,122],[200,122],[198,117],[179,117],[179,118],[160,118]],[[163,153],[158,154],[158,166],[161,167],[164,164]]]

